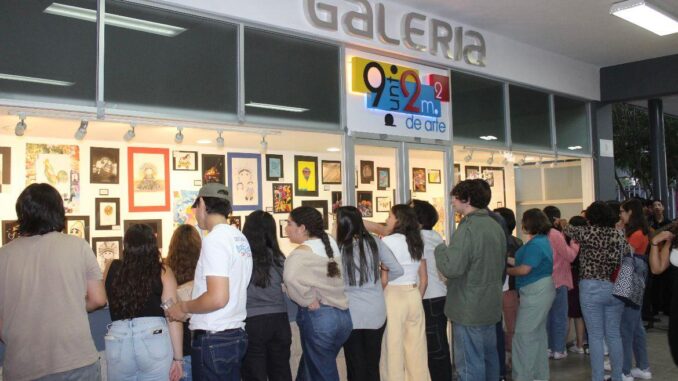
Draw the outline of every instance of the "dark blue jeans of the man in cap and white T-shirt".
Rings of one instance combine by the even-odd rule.
[[[191,368],[194,381],[240,381],[240,364],[247,351],[244,329],[193,331]]]

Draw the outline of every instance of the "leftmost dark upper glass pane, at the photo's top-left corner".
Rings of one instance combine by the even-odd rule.
[[[91,0],[0,1],[0,98],[95,105],[96,23],[68,9],[96,18]]]

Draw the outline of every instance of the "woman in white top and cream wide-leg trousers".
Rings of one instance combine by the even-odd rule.
[[[391,234],[383,241],[403,267],[404,275],[389,281],[384,290],[388,324],[379,369],[385,380],[428,381],[431,377],[422,306],[428,274],[417,215],[408,205],[394,205],[386,227]]]

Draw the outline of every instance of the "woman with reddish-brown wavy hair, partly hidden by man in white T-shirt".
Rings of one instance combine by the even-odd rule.
[[[200,257],[200,234],[192,225],[181,225],[172,234],[166,264],[177,279],[179,300],[191,300],[195,267]],[[183,323],[184,376],[182,381],[191,381],[191,330]]]

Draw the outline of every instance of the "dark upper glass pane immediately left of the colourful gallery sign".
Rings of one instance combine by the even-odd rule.
[[[248,121],[339,128],[339,48],[245,29]]]

